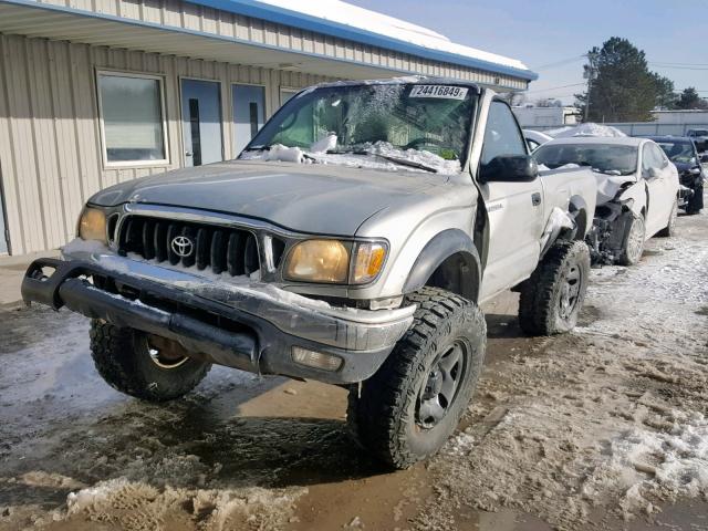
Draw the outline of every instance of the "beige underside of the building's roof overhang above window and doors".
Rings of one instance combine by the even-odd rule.
[[[0,0],[0,32],[333,77],[371,79],[409,73],[28,0]]]

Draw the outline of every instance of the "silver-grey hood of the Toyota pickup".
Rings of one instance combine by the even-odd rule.
[[[262,219],[294,231],[354,236],[374,214],[408,206],[415,196],[423,200],[448,178],[423,171],[230,160],[122,183],[88,202],[194,208]]]

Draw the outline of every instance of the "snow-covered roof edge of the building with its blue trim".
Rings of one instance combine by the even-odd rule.
[[[519,60],[457,44],[428,28],[341,0],[189,0],[189,2],[434,61],[489,70],[528,81],[539,77]]]

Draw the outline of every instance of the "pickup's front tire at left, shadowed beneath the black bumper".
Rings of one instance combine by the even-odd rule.
[[[91,321],[91,356],[98,374],[113,388],[149,402],[178,398],[207,375],[211,365],[185,358],[171,367],[150,356],[145,334],[98,320]]]

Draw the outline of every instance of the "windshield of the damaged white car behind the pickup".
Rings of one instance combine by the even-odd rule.
[[[632,175],[637,170],[637,148],[633,146],[545,144],[533,152],[533,157],[551,169],[577,164],[610,175]]]

